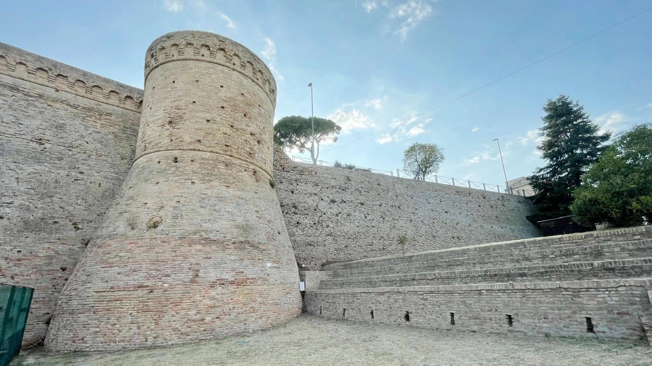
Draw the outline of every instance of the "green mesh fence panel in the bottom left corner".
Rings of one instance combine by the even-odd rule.
[[[18,356],[34,290],[0,283],[0,366]]]

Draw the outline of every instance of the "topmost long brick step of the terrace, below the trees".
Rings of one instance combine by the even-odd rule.
[[[636,240],[652,239],[652,226],[630,227],[607,231],[581,232],[558,236],[546,236],[509,242],[497,242],[436,251],[424,251],[408,255],[395,255],[372,259],[353,260],[328,264],[323,269],[329,271],[352,270],[369,266],[389,266],[394,264],[409,264],[429,260],[455,259],[462,257],[481,257],[501,253],[516,253],[520,251],[536,251],[556,249],[563,247],[586,246],[588,244],[609,244],[614,242],[630,242]]]

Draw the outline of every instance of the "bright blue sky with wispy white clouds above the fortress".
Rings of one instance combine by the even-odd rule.
[[[652,10],[469,96],[651,7],[647,1],[10,1],[0,40],[142,87],[145,49],[181,29],[212,31],[263,57],[276,119],[315,115],[344,128],[326,161],[395,171],[411,143],[437,143],[439,174],[504,181],[541,165],[541,107],[568,94],[619,131],[652,121]],[[364,138],[363,138],[364,137]]]

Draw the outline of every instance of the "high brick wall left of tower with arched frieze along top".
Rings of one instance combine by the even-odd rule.
[[[141,92],[0,43],[0,282],[35,289],[27,342],[129,170]]]

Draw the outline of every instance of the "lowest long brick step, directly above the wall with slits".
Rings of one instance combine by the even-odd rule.
[[[372,289],[378,287],[509,283],[510,281],[514,283],[585,281],[591,279],[649,277],[651,275],[652,257],[646,257],[638,259],[541,264],[537,266],[325,279],[321,281],[319,289]]]

